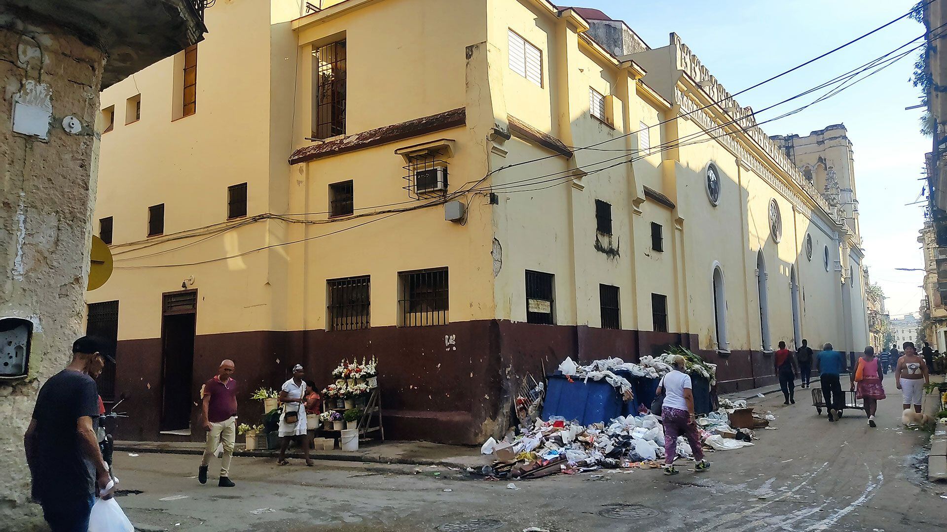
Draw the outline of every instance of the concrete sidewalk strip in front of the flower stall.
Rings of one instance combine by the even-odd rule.
[[[204,444],[200,442],[166,441],[116,441],[116,452],[157,452],[170,454],[203,454]],[[255,456],[276,458],[278,450],[247,451],[241,444],[234,450],[234,456]],[[302,458],[298,448],[286,452],[287,457]],[[441,445],[426,441],[386,441],[383,443],[363,442],[358,451],[313,451],[313,460],[339,460],[347,462],[370,462],[379,464],[407,464],[417,466],[443,466],[466,470],[481,468],[491,461],[490,456],[480,454],[477,447],[459,445]]]

